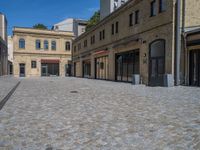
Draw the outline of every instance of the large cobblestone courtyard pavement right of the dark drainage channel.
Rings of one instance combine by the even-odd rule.
[[[200,88],[34,78],[0,111],[1,150],[199,150]]]

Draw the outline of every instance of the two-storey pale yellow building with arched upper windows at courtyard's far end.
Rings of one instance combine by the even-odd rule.
[[[13,29],[15,77],[70,75],[72,32]]]

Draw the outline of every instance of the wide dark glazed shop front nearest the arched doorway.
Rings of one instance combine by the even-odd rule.
[[[115,80],[120,82],[132,82],[134,74],[139,71],[139,50],[116,54]]]

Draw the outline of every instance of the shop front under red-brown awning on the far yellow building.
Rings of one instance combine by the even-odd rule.
[[[41,60],[41,76],[59,76],[59,60]]]

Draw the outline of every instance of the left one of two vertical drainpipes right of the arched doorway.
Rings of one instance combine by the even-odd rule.
[[[176,86],[180,85],[180,55],[181,55],[181,0],[176,1]]]

